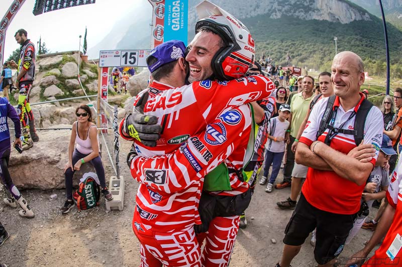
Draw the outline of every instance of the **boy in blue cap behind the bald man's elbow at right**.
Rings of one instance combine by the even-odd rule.
[[[389,175],[388,171],[385,169],[386,164],[388,164],[389,157],[395,155],[396,152],[392,148],[392,141],[385,134],[382,135],[382,144],[380,148],[380,153],[378,154],[377,161],[375,162],[374,169],[372,170],[370,177],[367,179],[366,186],[361,195],[361,203],[367,204],[368,209],[372,206],[375,199],[382,199],[385,197],[386,190],[388,190],[389,185]],[[361,209],[357,214],[353,228],[349,233],[348,239],[346,239],[346,244],[348,244],[357,232],[362,227],[367,213],[364,213]]]

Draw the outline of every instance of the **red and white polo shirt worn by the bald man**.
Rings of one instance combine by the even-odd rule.
[[[308,146],[316,140],[324,142],[328,130],[325,130],[318,138],[317,133],[320,127],[320,121],[326,111],[328,99],[329,98],[323,98],[315,104],[299,142],[305,143]],[[337,96],[334,107],[338,107],[338,112],[334,127],[340,127],[340,125],[346,121],[343,125],[343,129],[353,130],[356,116],[352,118],[350,118],[350,116],[352,112],[357,112],[363,99],[363,96],[361,96],[360,102],[356,107],[345,111],[340,105],[339,97]],[[379,153],[379,147],[382,141],[382,130],[384,127],[381,111],[376,107],[372,107],[367,114],[366,121],[362,123],[365,123],[364,143],[373,144],[374,148],[376,148],[375,156],[371,160],[374,166]],[[332,139],[330,147],[344,154],[348,154],[350,150],[356,147],[356,144],[353,135],[339,133]],[[364,184],[358,186],[356,183],[339,176],[334,171],[309,168],[306,182],[302,187],[302,192],[307,201],[318,209],[337,214],[354,214],[360,208],[361,193],[363,192],[364,186]]]

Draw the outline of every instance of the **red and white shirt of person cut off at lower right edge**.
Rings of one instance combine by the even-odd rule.
[[[400,159],[392,173],[386,198],[389,205],[395,209],[392,224],[381,246],[363,264],[364,267],[402,265],[402,161]]]

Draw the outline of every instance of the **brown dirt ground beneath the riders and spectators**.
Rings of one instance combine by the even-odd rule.
[[[0,221],[10,233],[10,238],[0,247],[0,263],[7,263],[11,267],[139,266],[139,245],[131,227],[138,184],[131,178],[126,164],[126,153],[131,144],[121,139],[120,142],[121,172],[126,182],[124,210],[108,213],[105,200],[102,199],[96,208],[85,211],[73,208],[68,214],[62,215],[59,208],[65,200],[63,190],[25,190],[22,193],[36,214],[33,219],[20,217],[18,209],[5,206],[0,201]],[[107,160],[105,156],[104,162]],[[107,165],[109,177],[112,168]],[[276,182],[281,180],[282,172]],[[230,266],[274,266],[281,257],[283,232],[292,211],[280,210],[275,203],[286,199],[290,188],[274,189],[269,194],[264,188],[258,184],[256,186],[253,200],[246,211],[248,225],[246,229],[239,230]],[[58,198],[49,200],[53,193]],[[0,199],[4,197],[5,191],[0,189]],[[375,212],[376,209],[370,211],[369,217],[373,217]],[[371,233],[371,230],[361,229],[340,257],[350,256],[362,248]],[[271,239],[275,239],[276,243],[272,243]],[[294,258],[292,266],[316,266],[313,250],[308,239]]]

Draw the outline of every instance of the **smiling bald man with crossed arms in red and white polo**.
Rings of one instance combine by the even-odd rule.
[[[330,125],[353,129],[356,112],[365,99],[359,93],[364,83],[362,60],[352,52],[341,52],[335,56],[331,70],[336,98]],[[327,103],[328,98],[323,98],[316,104],[297,145],[296,162],[308,166],[309,171],[286,226],[282,259],[276,266],[289,266],[316,227],[314,255],[318,266],[325,266],[341,253],[379,153],[383,121],[378,108],[371,107],[365,122],[362,121],[364,142],[356,147],[353,135],[326,129],[317,137]],[[324,143],[327,135],[329,145]]]

